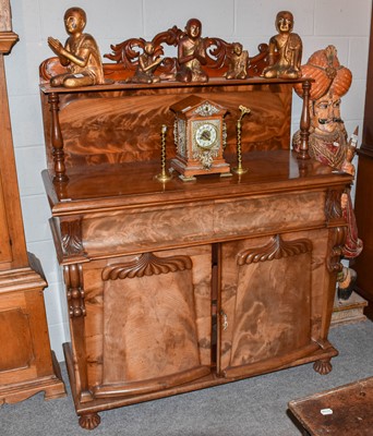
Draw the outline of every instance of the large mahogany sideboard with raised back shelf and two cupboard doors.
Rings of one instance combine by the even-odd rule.
[[[289,150],[298,81],[68,89],[41,78],[43,178],[64,269],[64,352],[81,426],[94,428],[107,409],[302,363],[328,373],[346,231],[340,195],[351,177],[299,158],[306,98],[304,153]],[[175,157],[169,108],[190,95],[228,109],[232,167],[239,105],[251,109],[246,173],[155,179],[164,124],[168,162]]]

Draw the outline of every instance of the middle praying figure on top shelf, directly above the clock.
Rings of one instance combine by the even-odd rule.
[[[191,19],[185,26],[186,35],[179,40],[176,80],[179,82],[207,82],[208,76],[201,65],[206,63],[205,41],[201,37],[200,20]]]

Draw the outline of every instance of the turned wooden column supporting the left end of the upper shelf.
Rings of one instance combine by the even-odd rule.
[[[52,145],[52,156],[55,162],[55,177],[53,182],[67,182],[69,180],[64,165],[64,152],[63,152],[63,137],[61,133],[61,125],[59,119],[59,96],[57,93],[48,95],[48,102],[51,112],[51,126],[50,126],[50,140]]]

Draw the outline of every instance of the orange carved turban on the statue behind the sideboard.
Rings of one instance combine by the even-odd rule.
[[[311,86],[311,100],[317,100],[329,92],[342,97],[351,86],[352,73],[348,68],[340,65],[337,49],[334,46],[315,51],[306,64],[301,66],[301,71],[302,77],[315,81]],[[302,97],[301,84],[294,85],[294,90]]]

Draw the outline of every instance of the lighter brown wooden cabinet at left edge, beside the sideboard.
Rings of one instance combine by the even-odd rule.
[[[15,173],[4,55],[17,40],[10,4],[0,10],[0,404],[65,395],[50,351],[43,290],[47,282],[38,261],[27,254]]]

